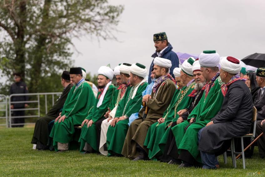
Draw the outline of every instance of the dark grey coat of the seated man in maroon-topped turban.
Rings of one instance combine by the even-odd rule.
[[[252,95],[244,81],[238,80],[229,85],[221,110],[212,118],[214,124],[204,127],[201,132],[198,150],[222,154],[233,137],[248,134],[252,107]]]

